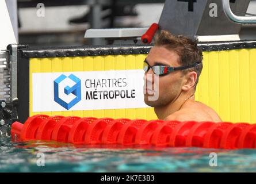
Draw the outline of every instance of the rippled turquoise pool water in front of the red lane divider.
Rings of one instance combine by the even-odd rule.
[[[217,166],[210,166],[217,154]],[[43,153],[43,154],[41,154]],[[41,160],[44,156],[44,166]],[[0,172],[255,172],[256,150],[72,145],[0,137]]]

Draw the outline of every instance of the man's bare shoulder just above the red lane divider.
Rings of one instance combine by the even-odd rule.
[[[201,102],[190,102],[177,112],[170,114],[165,120],[177,121],[213,121],[221,122],[219,115],[209,106]]]

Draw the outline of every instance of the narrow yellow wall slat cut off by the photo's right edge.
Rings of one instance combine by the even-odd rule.
[[[256,123],[256,49],[249,51],[249,72],[250,72],[250,115],[251,121]]]

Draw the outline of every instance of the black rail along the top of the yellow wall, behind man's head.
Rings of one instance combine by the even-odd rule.
[[[151,44],[135,45],[104,45],[104,46],[77,46],[77,47],[42,47],[20,49],[22,57],[68,57],[68,56],[102,56],[102,55],[129,55],[146,54]],[[256,48],[256,40],[247,41],[215,41],[201,42],[198,47],[202,51],[226,51],[242,48]]]

